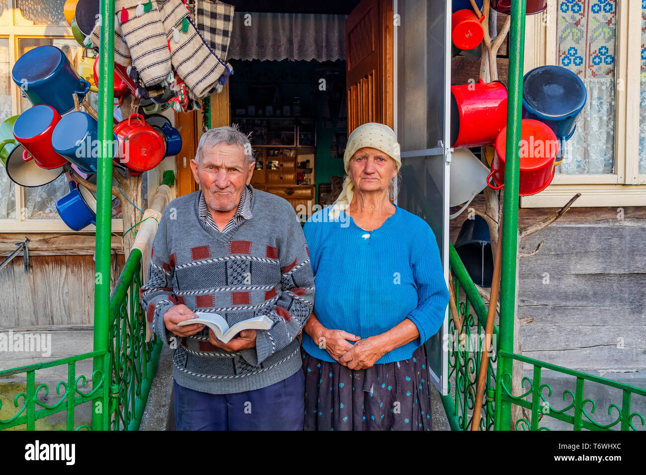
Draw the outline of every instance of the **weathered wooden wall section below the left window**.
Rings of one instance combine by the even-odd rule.
[[[32,233],[26,237],[30,271],[25,272],[22,253],[0,270],[0,328],[92,324],[94,235]],[[0,260],[24,238],[0,233]],[[114,285],[124,264],[120,237],[112,237],[111,261]]]

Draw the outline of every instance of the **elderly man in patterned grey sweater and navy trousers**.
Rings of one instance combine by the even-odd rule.
[[[255,161],[234,127],[205,132],[191,160],[200,190],[166,207],[152,246],[143,307],[174,349],[178,430],[302,430],[304,376],[298,338],[314,301],[309,253],[284,199],[249,184]],[[267,315],[270,330],[229,343],[194,311],[229,326]]]

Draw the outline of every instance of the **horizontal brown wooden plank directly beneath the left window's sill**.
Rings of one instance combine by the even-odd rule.
[[[16,249],[16,242],[29,238],[30,256],[39,255],[94,255],[95,236],[65,233],[0,233],[0,256],[7,256]],[[110,246],[123,254],[120,236],[112,235]],[[22,253],[21,253],[22,255]],[[16,259],[16,258],[14,258]]]

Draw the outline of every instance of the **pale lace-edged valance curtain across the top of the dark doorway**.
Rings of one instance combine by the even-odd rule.
[[[345,59],[345,21],[345,15],[235,12],[227,58]]]

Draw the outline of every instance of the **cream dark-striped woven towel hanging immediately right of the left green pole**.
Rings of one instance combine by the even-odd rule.
[[[171,73],[171,54],[161,23],[160,11],[154,1],[152,8],[136,16],[141,0],[115,0],[114,10],[121,26],[123,39],[130,48],[132,65],[147,86],[160,83]],[[128,12],[128,20],[121,23],[121,8]]]

